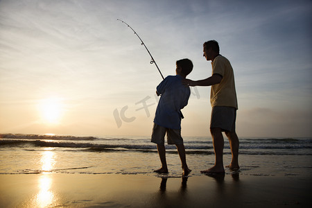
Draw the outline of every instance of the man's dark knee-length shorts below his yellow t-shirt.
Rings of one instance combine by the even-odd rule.
[[[210,128],[221,128],[223,132],[235,130],[236,108],[215,106],[211,110]]]

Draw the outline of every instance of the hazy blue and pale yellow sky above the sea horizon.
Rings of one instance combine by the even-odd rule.
[[[239,137],[312,137],[312,1],[0,0],[0,133],[149,136],[162,81],[202,44],[232,64]],[[182,136],[210,137],[210,87]]]

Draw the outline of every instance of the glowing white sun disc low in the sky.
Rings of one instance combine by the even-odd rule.
[[[40,115],[43,123],[60,124],[62,113],[64,112],[62,100],[60,98],[46,98],[40,103]]]

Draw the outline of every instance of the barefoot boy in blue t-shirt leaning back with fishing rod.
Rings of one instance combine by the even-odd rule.
[[[167,76],[156,88],[157,96],[161,95],[161,97],[155,113],[151,141],[157,144],[162,167],[154,172],[168,173],[164,146],[164,136],[167,133],[167,143],[175,144],[177,147],[182,162],[183,175],[188,175],[191,170],[187,166],[185,148],[181,137],[181,118],[183,118],[181,109],[187,105],[191,90],[182,85],[182,79],[191,73],[193,63],[189,59],[182,59],[177,60],[176,66],[176,76]]]

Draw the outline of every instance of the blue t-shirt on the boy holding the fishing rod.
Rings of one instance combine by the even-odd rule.
[[[182,85],[182,76],[167,76],[157,86],[161,94],[157,105],[154,123],[171,129],[181,129],[181,109],[189,101],[191,90]]]

